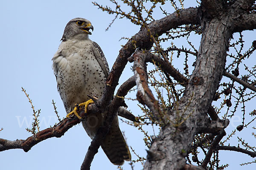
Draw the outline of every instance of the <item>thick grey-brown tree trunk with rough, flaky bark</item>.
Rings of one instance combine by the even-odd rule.
[[[199,19],[203,34],[195,70],[177,108],[169,115],[170,120],[177,120],[181,114],[187,119],[178,127],[172,123],[163,127],[159,137],[152,143],[145,170],[180,170],[185,166],[185,156],[192,139],[207,122],[206,113],[224,71],[230,37],[235,31],[255,28],[255,22],[247,20],[248,17],[253,20],[251,14],[241,19],[250,23],[243,28],[244,24],[235,22],[234,17],[246,15],[246,11],[242,11],[239,6],[235,9],[233,6],[226,8],[226,5],[219,0],[202,1]],[[205,164],[208,162],[206,160]]]

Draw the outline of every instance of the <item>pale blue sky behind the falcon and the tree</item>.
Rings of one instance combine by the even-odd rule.
[[[186,2],[188,1],[188,2]],[[108,0],[97,0],[99,3],[110,4]],[[189,6],[189,0],[185,0],[185,4]],[[173,9],[169,11],[172,13]],[[163,17],[157,13],[157,18]],[[105,53],[110,68],[112,67],[121,45],[126,40],[120,40],[122,37],[131,37],[140,30],[139,26],[134,26],[128,20],[116,20],[109,31],[105,31],[113,15],[102,12],[93,6],[90,0],[1,0],[0,1],[0,107],[2,108],[0,127],[4,130],[0,132],[0,138],[16,140],[26,139],[31,136],[26,132],[25,128],[31,128],[32,109],[26,96],[21,91],[21,87],[32,99],[35,109],[41,109],[41,130],[54,125],[56,120],[52,107],[52,99],[56,102],[59,115],[65,116],[64,106],[56,88],[56,80],[53,74],[52,56],[58,49],[60,39],[67,22],[75,17],[83,17],[91,21],[94,31],[90,35],[90,39],[96,41]],[[253,35],[253,36],[252,36]],[[247,38],[255,40],[255,34],[250,31]],[[119,41],[120,40],[120,41]],[[190,41],[196,42],[198,47],[200,37],[193,36]],[[178,47],[183,42],[175,43]],[[184,46],[185,42],[184,42]],[[248,44],[247,46],[250,46]],[[175,62],[174,64],[180,64]],[[254,62],[255,63],[255,62]],[[183,62],[176,68],[182,70]],[[122,75],[119,84],[133,75],[129,63]],[[129,96],[136,98],[134,94]],[[128,109],[135,114],[142,114],[137,107],[137,102],[127,101]],[[237,118],[239,119],[239,118]],[[233,122],[233,126],[239,125],[239,122]],[[131,145],[140,156],[146,156],[145,145],[143,142],[143,134],[135,127],[131,127],[120,121],[120,128],[125,131],[128,145]],[[151,129],[151,126],[145,127]],[[232,129],[232,128],[227,128]],[[255,143],[248,133],[247,138]],[[0,152],[0,169],[3,170],[45,170],[45,169],[79,169],[84,160],[85,153],[90,145],[90,138],[87,136],[81,125],[71,128],[61,138],[47,139],[41,142],[28,152],[23,150],[7,150]],[[230,142],[231,143],[231,142]],[[236,140],[235,142],[236,143]],[[229,161],[228,164],[234,164],[232,169],[252,169],[256,165],[240,167],[239,164],[253,159],[250,156],[237,153],[236,159],[229,157],[234,152],[227,152],[222,155],[224,159]],[[137,157],[132,154],[132,159]],[[100,163],[99,163],[100,162]],[[128,162],[123,166],[125,170],[131,169]],[[140,163],[135,165],[135,170],[142,167]],[[91,165],[92,170],[98,169],[116,169],[108,158],[99,149],[95,159]],[[231,166],[228,168],[231,169]]]

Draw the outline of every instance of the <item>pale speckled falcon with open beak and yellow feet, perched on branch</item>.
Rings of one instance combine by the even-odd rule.
[[[90,21],[84,18],[70,20],[58,51],[52,58],[58,92],[67,113],[73,111],[76,103],[89,100],[87,94],[101,96],[108,78],[108,63],[99,45],[89,39],[88,35],[92,34],[90,30],[93,31]],[[99,126],[103,125],[104,118],[102,113],[88,114],[82,121],[91,139],[96,136]],[[113,164],[122,165],[124,160],[131,160],[117,116],[101,147]]]

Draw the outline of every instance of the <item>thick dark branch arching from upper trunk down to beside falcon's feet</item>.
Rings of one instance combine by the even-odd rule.
[[[170,29],[176,28],[177,26],[181,26],[183,24],[198,24],[199,22],[197,14],[198,8],[184,9],[179,11],[178,14],[174,12],[167,17],[148,24],[148,28],[153,35],[160,36],[166,31],[169,31]],[[111,73],[107,79],[103,95],[97,104],[100,105],[102,109],[109,105],[116,85],[118,85],[119,77],[122,74],[125,65],[127,64],[127,59],[128,57],[131,57],[131,54],[133,54],[135,51],[134,42],[136,42],[137,47],[142,49],[151,48],[153,45],[151,38],[148,35],[148,31],[142,27],[140,31],[135,34],[131,40],[129,40],[124,45],[123,48],[121,48],[119,55],[116,58],[116,62],[114,63],[113,68],[111,69]]]

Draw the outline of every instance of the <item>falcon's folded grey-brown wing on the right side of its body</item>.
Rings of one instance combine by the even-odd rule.
[[[102,68],[106,78],[108,78],[109,75],[109,67],[108,67],[108,62],[105,58],[105,55],[100,48],[100,46],[93,41],[93,54],[96,57],[97,61],[99,62],[100,67]]]

